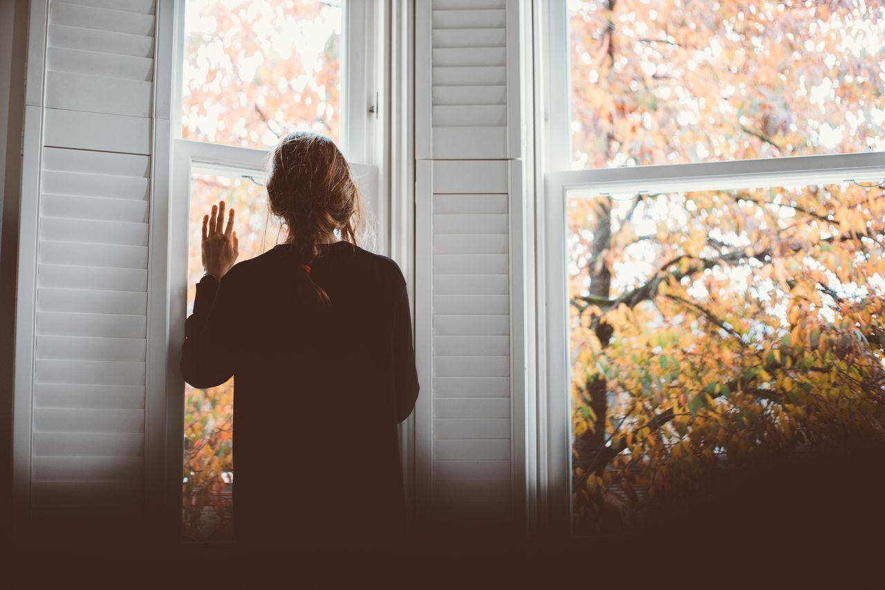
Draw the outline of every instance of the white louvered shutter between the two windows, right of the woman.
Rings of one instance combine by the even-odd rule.
[[[416,16],[419,516],[434,535],[509,536],[524,485],[519,3],[425,0]]]

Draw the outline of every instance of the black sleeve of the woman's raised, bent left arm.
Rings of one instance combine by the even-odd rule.
[[[200,389],[225,383],[234,375],[231,273],[204,276],[196,283],[194,313],[184,323],[181,376]]]

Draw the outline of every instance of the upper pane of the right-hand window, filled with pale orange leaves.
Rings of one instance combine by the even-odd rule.
[[[885,150],[881,2],[568,0],[568,21],[573,167]]]

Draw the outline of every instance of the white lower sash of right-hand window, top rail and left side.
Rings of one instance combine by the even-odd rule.
[[[538,258],[538,299],[546,333],[545,352],[537,358],[539,487],[547,517],[545,537],[565,539],[573,533],[571,416],[569,400],[568,274],[566,206],[570,193],[615,196],[644,192],[767,188],[821,182],[881,182],[885,151],[748,159],[703,164],[603,168],[548,173],[544,176],[543,243]]]

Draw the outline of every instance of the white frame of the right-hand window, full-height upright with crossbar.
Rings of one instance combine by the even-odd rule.
[[[538,5],[539,4],[539,5]],[[881,182],[885,151],[699,164],[571,170],[566,0],[536,4],[535,76],[537,244],[537,452],[539,533],[543,540],[573,536],[570,366],[567,329],[566,202],[569,192],[596,195],[670,190],[728,190],[827,182]],[[540,180],[542,179],[543,180]]]

